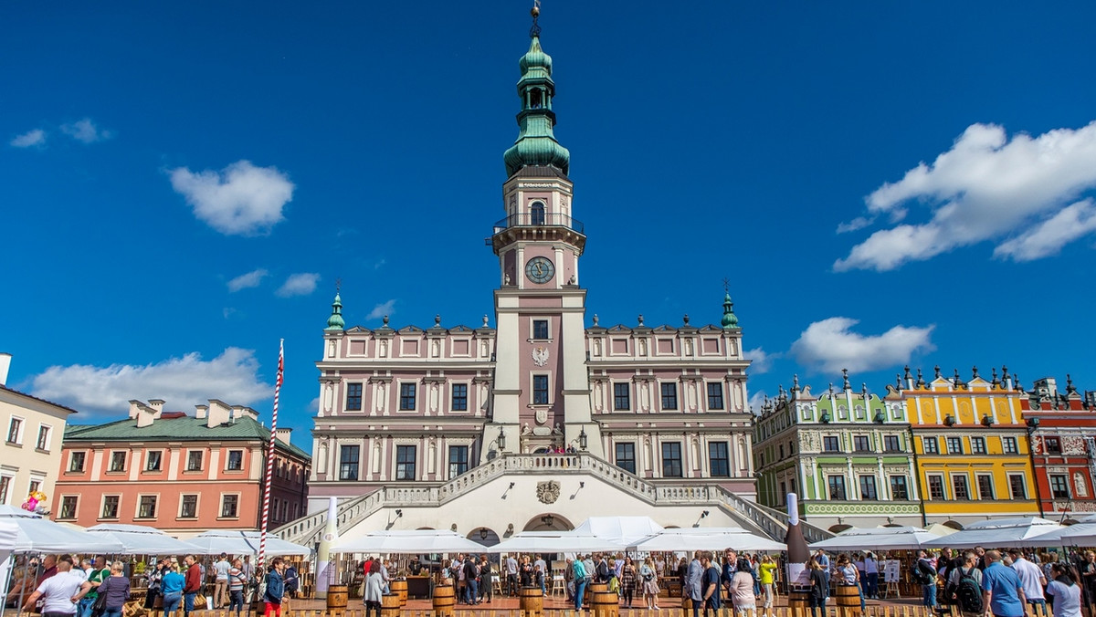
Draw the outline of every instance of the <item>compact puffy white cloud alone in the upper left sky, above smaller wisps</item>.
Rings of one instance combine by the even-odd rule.
[[[226,236],[265,233],[284,217],[294,184],[273,167],[237,161],[220,172],[171,170],[171,186],[194,207],[194,216]]]

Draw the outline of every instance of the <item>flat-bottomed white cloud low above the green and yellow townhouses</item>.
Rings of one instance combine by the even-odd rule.
[[[936,349],[929,341],[935,325],[895,325],[882,334],[866,336],[852,331],[857,323],[847,317],[815,321],[791,344],[791,354],[800,364],[823,372],[847,368],[855,373],[906,364],[914,352]]]

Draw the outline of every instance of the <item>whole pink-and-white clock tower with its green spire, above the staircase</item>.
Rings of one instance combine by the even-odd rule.
[[[551,56],[540,48],[538,9],[517,81],[517,140],[503,155],[504,218],[491,247],[499,256],[494,292],[495,378],[492,421],[484,443],[504,453],[557,448],[604,456],[590,411],[585,356],[586,290],[579,286],[579,258],[586,244],[572,215],[570,153],[556,140]],[[504,435],[504,439],[499,439]],[[483,448],[484,457],[493,448]],[[495,450],[495,452],[498,452]]]

